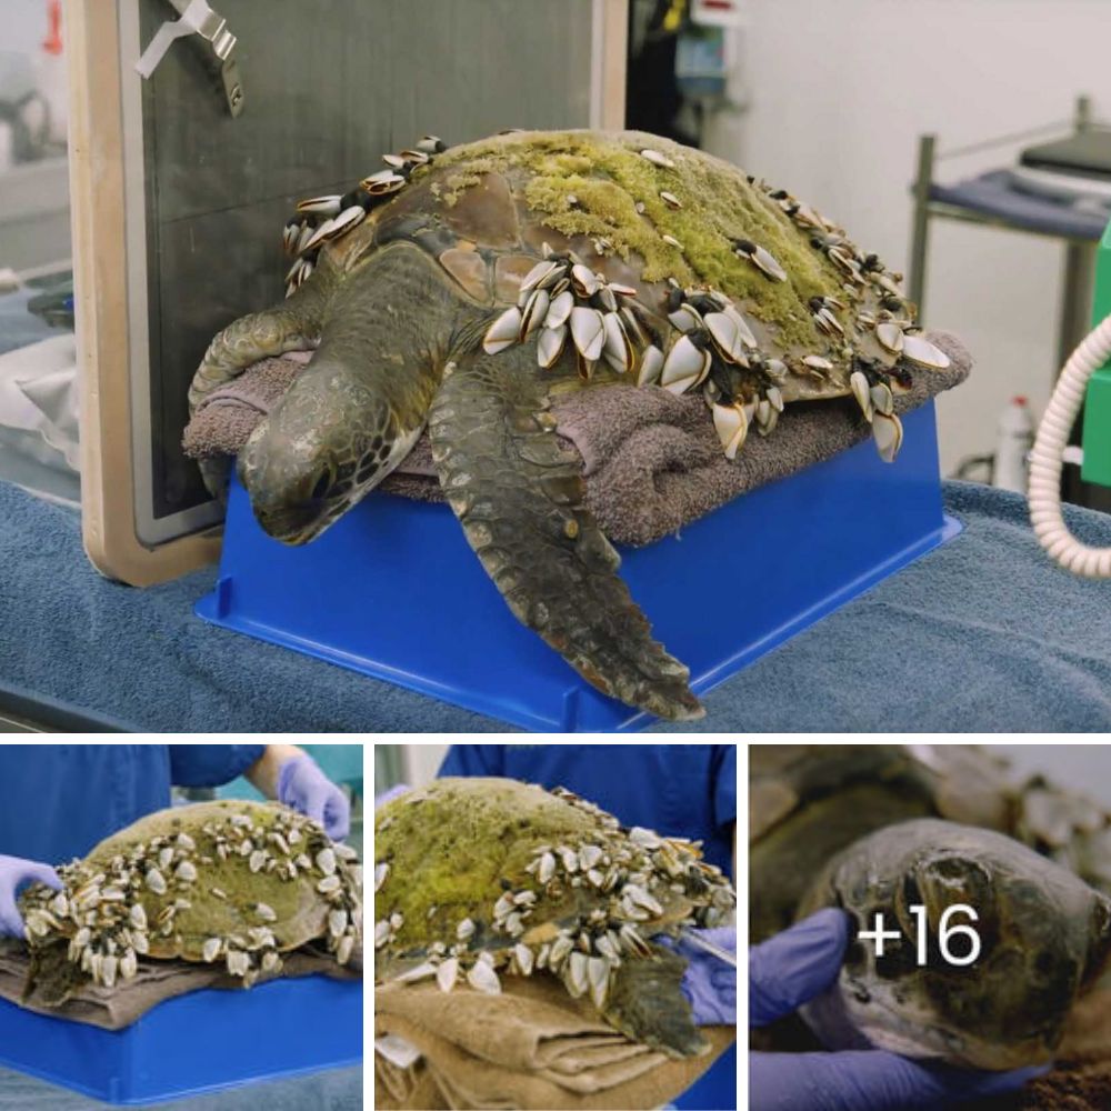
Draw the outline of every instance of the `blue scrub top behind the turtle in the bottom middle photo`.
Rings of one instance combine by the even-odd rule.
[[[439,773],[565,787],[625,825],[701,840],[732,875],[734,744],[452,744]]]

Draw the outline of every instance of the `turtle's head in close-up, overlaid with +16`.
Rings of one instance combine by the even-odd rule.
[[[1010,838],[953,822],[863,838],[819,885],[818,905],[854,919],[838,981],[804,1010],[831,1048],[991,1070],[1047,1062],[1111,945],[1104,895]],[[882,944],[861,937],[880,923]]]

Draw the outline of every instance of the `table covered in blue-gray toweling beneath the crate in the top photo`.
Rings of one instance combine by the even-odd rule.
[[[1111,582],[1052,564],[1024,499],[957,482],[943,493],[959,537],[710,691],[701,721],[651,728],[1111,728]],[[1111,517],[1065,516],[1083,541],[1111,544]],[[742,552],[704,591],[689,584],[692,605],[712,605],[731,574],[744,582],[730,569]],[[509,728],[207,624],[192,607],[214,578],[210,568],[146,590],[108,581],[84,558],[74,512],[0,483],[0,714],[142,731]]]

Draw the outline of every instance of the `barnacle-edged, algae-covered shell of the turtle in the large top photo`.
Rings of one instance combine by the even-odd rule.
[[[562,343],[543,332],[567,321],[572,299],[578,327],[607,329],[597,351],[579,344],[579,373],[597,381],[705,383],[710,401],[752,399],[773,381],[791,402],[849,394],[854,370],[893,374],[898,392],[915,359],[948,366],[908,339],[917,329],[900,276],[784,190],[703,151],[638,132],[526,131],[404,172],[366,218],[347,209],[350,230],[320,249],[350,270],[390,243],[418,244],[467,298],[511,307],[507,334],[518,326],[519,341],[544,339],[541,366],[558,361]],[[541,273],[546,259],[553,269]],[[570,299],[557,310],[560,293]],[[551,331],[565,341],[563,327]],[[683,336],[708,352],[704,371],[663,369]],[[677,366],[698,358],[683,348]]]

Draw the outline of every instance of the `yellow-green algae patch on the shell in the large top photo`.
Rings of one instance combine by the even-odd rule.
[[[644,149],[662,152],[674,167],[653,164],[640,153]],[[645,281],[674,278],[682,286],[721,289],[744,300],[758,319],[774,323],[784,346],[825,349],[825,337],[800,304],[840,290],[844,276],[735,167],[634,131],[520,131],[449,148],[434,163],[414,170],[411,181],[442,173],[442,196],[453,203],[487,173],[507,170],[531,176],[526,197],[548,226],[568,237],[608,239],[627,261],[642,260]],[[670,207],[661,191],[673,193],[682,207]],[[779,260],[789,283],[770,282],[734,254],[740,228]],[[665,234],[682,250],[665,243]]]

